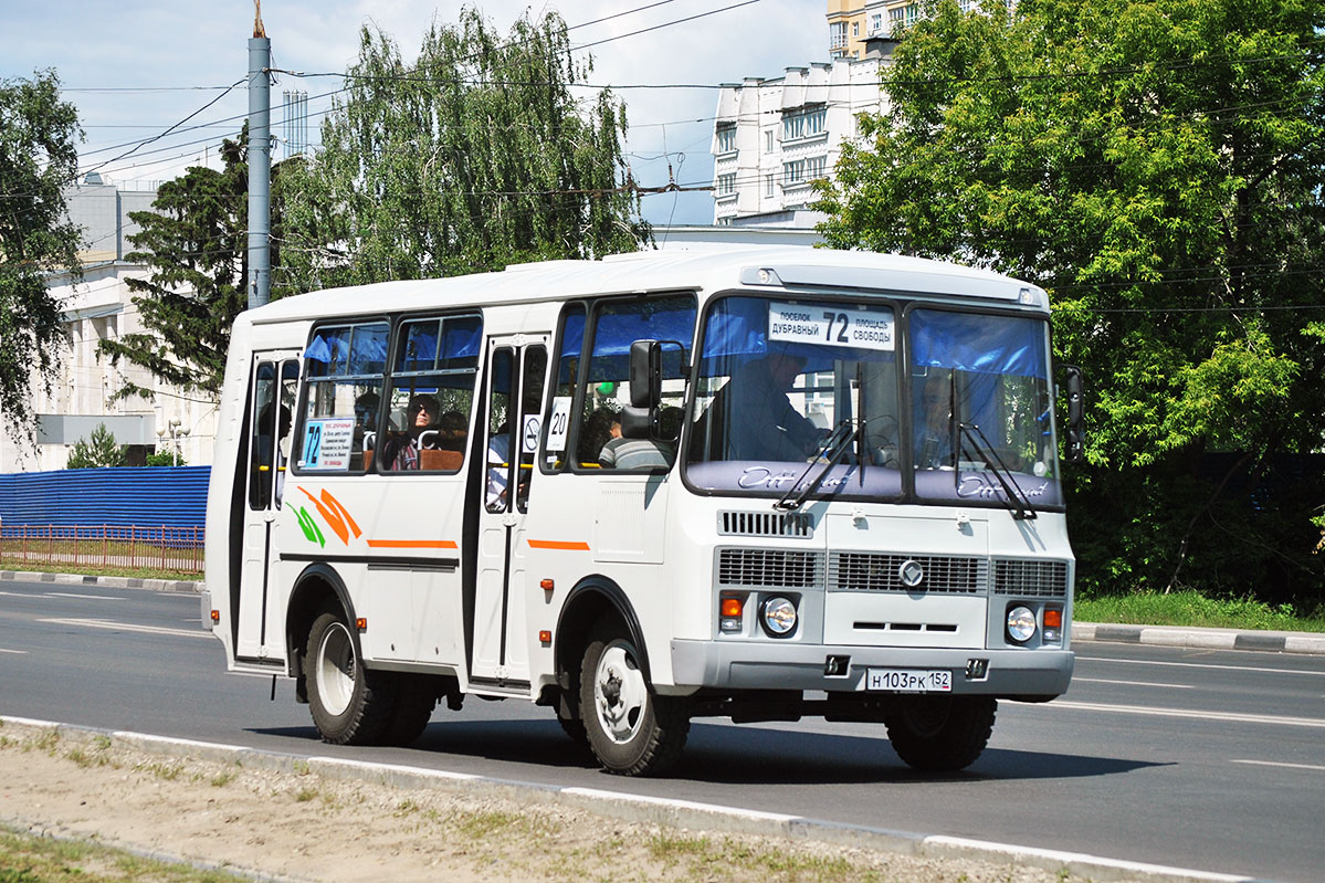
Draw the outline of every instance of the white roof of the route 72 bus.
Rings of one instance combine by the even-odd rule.
[[[390,313],[437,305],[489,306],[599,294],[755,288],[894,290],[988,298],[1047,309],[1037,286],[990,270],[901,255],[806,247],[721,247],[513,264],[504,272],[333,288],[245,313],[253,324]],[[1032,300],[1024,292],[1030,290]]]

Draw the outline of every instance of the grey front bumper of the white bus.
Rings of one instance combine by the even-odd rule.
[[[845,674],[825,674],[829,656],[849,660]],[[967,676],[971,660],[986,660],[982,677]],[[672,677],[686,688],[863,692],[868,668],[946,668],[953,693],[1048,699],[1067,692],[1075,660],[1068,650],[672,642]]]

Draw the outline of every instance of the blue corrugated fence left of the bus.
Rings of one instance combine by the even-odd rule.
[[[211,467],[0,475],[0,524],[201,528]]]

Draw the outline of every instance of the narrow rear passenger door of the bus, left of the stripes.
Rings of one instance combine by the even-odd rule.
[[[290,459],[290,418],[299,382],[299,354],[295,351],[256,353],[249,374],[248,489],[244,500],[242,559],[240,565],[238,611],[235,655],[238,659],[266,660],[272,643],[284,644],[284,635],[268,627],[268,599],[273,594],[273,562],[277,559],[276,517],[285,491],[285,465]],[[284,654],[273,654],[282,660]]]

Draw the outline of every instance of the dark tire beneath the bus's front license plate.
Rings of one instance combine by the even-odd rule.
[[[884,720],[893,750],[912,769],[950,773],[975,762],[994,732],[988,696],[898,696]]]

